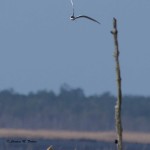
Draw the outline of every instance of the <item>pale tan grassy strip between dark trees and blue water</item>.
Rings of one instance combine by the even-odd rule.
[[[116,133],[112,131],[84,132],[67,130],[25,130],[25,129],[0,129],[0,138],[43,138],[62,140],[96,140],[113,142]],[[124,142],[130,143],[150,143],[150,133],[124,132]]]

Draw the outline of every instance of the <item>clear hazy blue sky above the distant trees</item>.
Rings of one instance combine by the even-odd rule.
[[[118,19],[124,94],[150,95],[150,0],[0,0],[0,90],[116,94],[112,19]]]

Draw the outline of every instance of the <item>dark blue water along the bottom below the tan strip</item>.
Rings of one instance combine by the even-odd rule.
[[[0,150],[46,150],[50,145],[53,145],[54,150],[117,150],[114,142],[22,138],[0,139]],[[150,144],[124,143],[124,150],[150,150]]]

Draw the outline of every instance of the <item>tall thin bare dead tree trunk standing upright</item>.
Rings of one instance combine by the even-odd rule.
[[[114,37],[114,58],[116,63],[116,79],[117,79],[117,102],[115,106],[115,125],[117,132],[117,149],[122,150],[122,123],[121,123],[121,103],[122,103],[122,91],[121,91],[121,72],[119,64],[119,45],[118,45],[118,30],[117,20],[113,19],[113,30],[111,31]]]

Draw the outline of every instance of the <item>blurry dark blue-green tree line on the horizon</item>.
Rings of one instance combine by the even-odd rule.
[[[19,94],[0,91],[0,128],[77,131],[115,130],[116,97],[109,92],[86,96],[81,88],[62,86],[59,94],[41,90]],[[123,96],[123,129],[150,131],[150,97]]]

